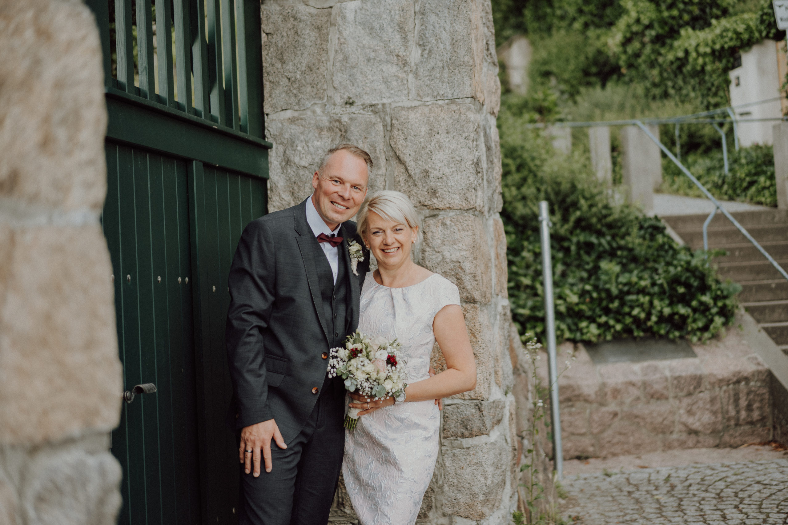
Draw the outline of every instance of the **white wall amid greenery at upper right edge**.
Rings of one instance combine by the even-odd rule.
[[[749,51],[742,53],[742,65],[728,72],[730,105],[734,106],[737,119],[780,118],[782,116],[779,100],[744,108],[736,107],[780,96],[782,79],[780,79],[778,72],[777,46],[782,45],[782,42],[764,40]],[[771,144],[771,128],[774,124],[775,121],[740,122],[738,124],[739,145]]]

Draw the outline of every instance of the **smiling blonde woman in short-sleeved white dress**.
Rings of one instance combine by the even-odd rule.
[[[476,364],[459,290],[411,261],[421,238],[418,216],[399,191],[378,191],[359,210],[358,231],[377,260],[361,294],[359,330],[397,338],[407,370],[403,399],[351,394],[362,409],[355,431],[345,431],[342,474],[362,525],[412,525],[432,479],[438,454],[439,400],[473,390]],[[446,370],[432,375],[438,342]]]

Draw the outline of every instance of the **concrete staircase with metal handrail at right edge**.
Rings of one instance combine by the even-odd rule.
[[[731,213],[750,235],[788,269],[788,210],[766,209]],[[693,250],[703,248],[703,223],[708,215],[663,216]],[[708,225],[708,247],[727,251],[716,257],[719,274],[742,285],[739,300],[758,325],[788,355],[788,281],[721,213]]]

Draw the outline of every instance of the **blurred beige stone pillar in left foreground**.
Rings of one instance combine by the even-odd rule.
[[[0,2],[0,523],[110,525],[121,410],[102,54],[81,2]]]

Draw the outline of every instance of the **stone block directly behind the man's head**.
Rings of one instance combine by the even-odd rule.
[[[270,153],[268,210],[288,208],[312,194],[312,174],[326,151],[342,142],[366,150],[374,167],[369,191],[385,188],[383,124],[374,115],[314,115],[266,121],[266,135],[277,146]]]

